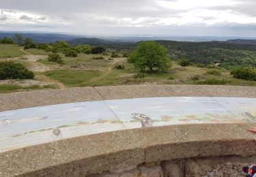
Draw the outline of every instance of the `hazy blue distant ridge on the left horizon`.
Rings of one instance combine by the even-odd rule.
[[[17,32],[18,33],[18,32]],[[13,37],[16,33],[0,32],[0,39],[3,37]],[[53,33],[21,33],[24,38],[33,39],[35,44],[38,43],[53,43],[57,40],[69,41],[81,37],[80,35],[65,35]]]

